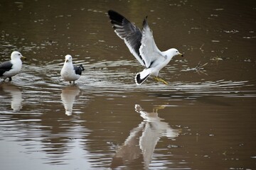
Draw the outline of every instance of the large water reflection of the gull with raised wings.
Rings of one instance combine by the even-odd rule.
[[[164,119],[159,118],[157,112],[159,109],[163,108],[165,108],[165,106],[159,106],[149,113],[144,111],[138,104],[135,105],[135,111],[139,113],[144,120],[137,128],[134,128],[130,132],[124,145],[117,149],[112,159],[112,168],[127,164],[142,155],[144,168],[149,169],[154,149],[160,137],[168,137],[169,139],[178,137],[180,130],[174,130],[168,123],[162,121]]]

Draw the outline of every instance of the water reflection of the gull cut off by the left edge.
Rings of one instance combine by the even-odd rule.
[[[20,111],[22,108],[22,91],[18,89],[18,86],[10,84],[8,82],[1,84],[0,89],[4,92],[11,94],[11,108],[14,111]]]

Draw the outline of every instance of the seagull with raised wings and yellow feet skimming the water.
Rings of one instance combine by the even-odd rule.
[[[135,76],[137,85],[142,84],[149,76],[154,77],[156,81],[168,84],[164,79],[158,77],[159,71],[168,64],[172,57],[183,55],[175,48],[161,52],[154,42],[153,34],[149,24],[144,18],[143,28],[140,30],[137,26],[124,18],[116,11],[108,11],[114,32],[119,38],[123,39],[129,51],[136,57],[142,66],[146,67],[142,72]]]

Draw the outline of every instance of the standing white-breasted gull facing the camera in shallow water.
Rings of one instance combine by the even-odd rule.
[[[82,64],[79,65],[79,67],[73,65],[72,63],[72,57],[71,55],[65,56],[65,62],[63,65],[63,68],[61,69],[60,75],[65,81],[73,81],[73,84],[75,84],[75,80],[79,79],[79,77],[82,74],[82,71],[84,71],[84,67],[82,67]]]

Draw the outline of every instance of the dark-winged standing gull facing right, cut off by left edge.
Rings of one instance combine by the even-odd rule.
[[[0,64],[0,78],[4,79],[4,81],[9,78],[9,81],[11,81],[11,77],[15,76],[21,71],[21,58],[26,59],[26,57],[21,55],[21,52],[11,52],[11,60],[2,62]]]

